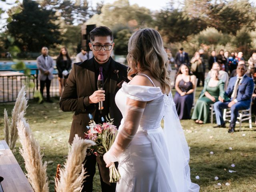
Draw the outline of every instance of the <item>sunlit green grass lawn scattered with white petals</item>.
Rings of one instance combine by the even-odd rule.
[[[198,94],[202,88],[197,90]],[[71,112],[62,112],[58,100],[49,104],[28,102],[26,118],[33,131],[34,137],[40,143],[44,153],[44,161],[53,161],[48,164],[48,178],[50,191],[54,191],[54,176],[57,164],[63,164],[68,152],[68,137],[72,122]],[[3,112],[11,110],[14,103],[0,104],[0,140],[4,139]],[[256,191],[256,127],[249,129],[248,123],[243,123],[243,131],[228,134],[225,128],[212,128],[212,124],[198,125],[193,120],[182,120],[188,145],[190,146],[191,180],[200,185],[202,192],[255,192]],[[245,136],[242,136],[245,134]],[[22,170],[24,160],[18,152],[20,143],[17,142],[14,156]],[[232,147],[232,150],[229,150]],[[210,152],[214,154],[210,154]],[[235,167],[231,167],[235,164]],[[228,170],[236,172],[230,173]],[[197,180],[195,177],[200,176]],[[214,177],[219,180],[215,181]],[[221,183],[220,189],[214,187]],[[225,186],[229,182],[230,186]],[[94,191],[100,192],[98,172],[94,177]]]

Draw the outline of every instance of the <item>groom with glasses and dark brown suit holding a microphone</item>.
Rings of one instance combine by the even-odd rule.
[[[90,32],[90,50],[94,57],[84,62],[75,63],[72,67],[62,97],[60,108],[63,111],[73,111],[73,121],[68,142],[72,144],[75,134],[84,138],[87,133],[92,114],[96,123],[102,124],[102,117],[110,114],[114,118],[114,125],[118,128],[122,119],[122,114],[117,108],[114,98],[116,92],[122,87],[122,83],[127,81],[127,67],[115,62],[111,58],[114,48],[112,31],[100,26]],[[103,90],[97,90],[96,82],[101,74],[104,79]],[[103,101],[103,110],[98,110],[98,102]],[[92,182],[96,171],[96,161],[100,172],[100,182],[102,192],[115,192],[116,184],[109,183],[109,169],[102,157],[93,154],[86,156],[86,180],[83,192],[92,192]]]

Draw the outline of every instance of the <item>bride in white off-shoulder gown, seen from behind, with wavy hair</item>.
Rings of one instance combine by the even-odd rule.
[[[153,29],[136,31],[127,60],[131,81],[123,83],[115,98],[123,119],[104,155],[107,167],[119,162],[116,191],[198,192],[200,187],[190,180],[188,144],[170,92],[160,34]]]

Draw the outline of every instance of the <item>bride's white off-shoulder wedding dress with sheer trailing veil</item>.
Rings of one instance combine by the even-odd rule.
[[[124,82],[115,98],[123,115],[119,131],[126,116],[127,97],[147,104],[138,131],[118,157],[121,179],[116,192],[198,192],[200,187],[190,180],[188,144],[172,94],[162,94],[156,86]],[[163,117],[164,129],[160,126]]]

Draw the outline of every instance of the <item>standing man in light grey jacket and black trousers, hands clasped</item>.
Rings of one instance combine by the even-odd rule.
[[[41,52],[42,54],[36,58],[37,67],[39,69],[38,78],[40,80],[40,92],[42,97],[44,97],[44,86],[46,85],[46,102],[52,103],[52,100],[50,100],[50,85],[53,79],[53,60],[48,55],[47,47],[43,47]]]

